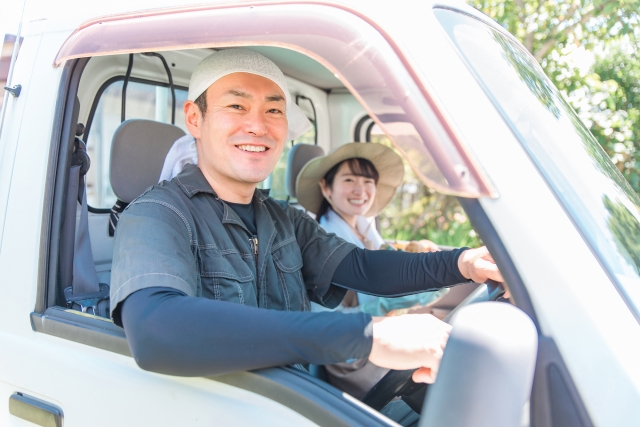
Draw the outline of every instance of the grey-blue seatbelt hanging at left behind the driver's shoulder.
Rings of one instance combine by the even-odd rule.
[[[92,314],[106,317],[109,314],[109,286],[98,282],[89,236],[85,175],[91,162],[86,146],[80,138],[75,139],[74,145],[63,226],[65,234],[63,234],[61,251],[61,255],[65,256],[62,258],[64,262],[61,271],[62,283],[71,282],[71,286],[64,289],[64,297],[69,308],[83,313],[91,308]],[[80,203],[80,221],[76,224],[78,203]],[[73,247],[70,247],[71,242]]]

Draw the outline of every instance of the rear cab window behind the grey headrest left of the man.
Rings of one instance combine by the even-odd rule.
[[[87,151],[91,168],[87,173],[87,203],[94,208],[111,208],[116,196],[109,180],[111,140],[120,126],[122,108],[122,79],[111,83],[100,95],[91,121]],[[187,132],[182,105],[187,91],[175,88],[176,126]],[[148,119],[171,123],[171,90],[152,83],[129,81],[127,85],[126,119]]]

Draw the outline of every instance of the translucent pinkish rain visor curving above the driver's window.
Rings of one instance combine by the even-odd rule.
[[[413,69],[415,66],[429,67],[432,62],[422,58],[419,64],[410,66],[413,70],[409,69],[408,64],[414,61],[407,61],[406,53],[369,23],[346,10],[334,8],[335,13],[327,14],[320,12],[325,6],[316,6],[292,7],[287,13],[281,13],[281,5],[265,5],[262,14],[241,7],[225,9],[222,14],[216,8],[155,14],[136,20],[135,37],[130,20],[116,18],[107,26],[96,21],[76,31],[60,48],[54,63],[144,51],[148,46],[156,50],[190,49],[221,43],[245,45],[253,39],[260,40],[265,49],[286,45],[287,50],[333,64],[333,78],[347,84],[430,187],[463,197],[497,197],[486,174],[457,138],[455,129],[434,109],[431,90],[422,87],[414,77],[414,72],[419,74],[419,70]],[[267,9],[273,9],[278,16],[277,24],[275,15]],[[193,13],[198,15],[197,19]],[[251,25],[245,25],[247,20]],[[308,29],[304,37],[291,31],[301,22]],[[109,43],[102,42],[105,38]],[[280,53],[277,55],[280,57]],[[308,58],[295,65],[296,73],[306,69],[303,64],[307,61]],[[318,69],[316,65],[311,67],[310,71]],[[335,83],[333,78],[331,85]]]

